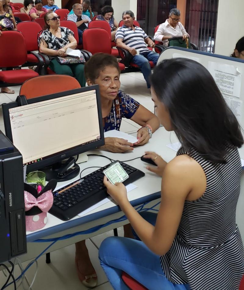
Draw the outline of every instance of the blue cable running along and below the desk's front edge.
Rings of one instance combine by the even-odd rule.
[[[152,211],[158,211],[157,209],[154,209],[158,204],[160,204],[160,202],[158,202],[157,204],[153,205],[151,208],[144,208],[144,206],[146,204],[148,204],[150,201],[148,202],[145,202],[144,204],[140,205],[138,208],[136,208],[135,210],[137,212],[142,212],[142,211],[149,211],[149,210],[152,210]],[[30,262],[29,265],[27,265],[27,267],[24,269],[24,271],[20,274],[20,276],[18,278],[15,279],[15,281],[18,281],[22,276],[23,274],[25,274],[25,272],[34,264],[34,262],[36,260],[38,260],[52,245],[54,245],[56,242],[58,241],[61,241],[61,240],[65,240],[65,239],[70,239],[74,236],[78,236],[78,235],[84,235],[84,234],[89,234],[89,233],[92,233],[92,232],[96,232],[98,231],[99,229],[102,229],[108,225],[111,225],[113,223],[116,223],[116,222],[123,222],[124,220],[126,220],[127,217],[125,215],[123,215],[122,217],[120,218],[117,218],[117,219],[114,219],[112,221],[109,221],[109,222],[106,222],[105,224],[102,224],[102,225],[96,225],[95,227],[93,228],[90,228],[88,230],[84,230],[84,231],[80,231],[80,232],[75,232],[73,234],[67,234],[67,235],[64,235],[64,236],[60,236],[60,237],[56,237],[56,238],[51,238],[51,239],[36,239],[34,240],[32,243],[47,243],[47,242],[52,242],[49,246],[46,247],[45,250],[43,250],[32,262]],[[9,283],[8,285],[6,285],[3,289],[7,288],[9,285],[13,284],[13,282]]]

